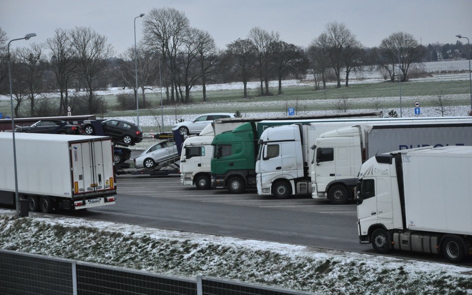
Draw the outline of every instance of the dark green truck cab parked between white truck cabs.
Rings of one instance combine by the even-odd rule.
[[[255,159],[258,152],[254,122],[244,123],[233,131],[218,134],[213,139],[211,161],[212,188],[240,194],[256,188]]]

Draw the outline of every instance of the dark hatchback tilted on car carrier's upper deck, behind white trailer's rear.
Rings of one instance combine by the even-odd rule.
[[[102,121],[101,124],[99,124],[99,122],[100,121],[96,120],[84,120],[82,129],[88,135],[111,136],[115,141],[124,143],[126,146],[134,145],[142,141],[142,129],[133,123],[116,119],[105,120]],[[104,134],[96,130],[100,125],[103,128]]]

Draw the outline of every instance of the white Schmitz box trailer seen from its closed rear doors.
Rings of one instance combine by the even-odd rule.
[[[15,204],[13,136],[0,132],[0,203]],[[15,133],[17,191],[29,211],[115,204],[111,137]]]

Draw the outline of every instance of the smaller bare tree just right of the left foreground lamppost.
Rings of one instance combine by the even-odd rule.
[[[22,64],[24,89],[29,99],[30,115],[33,117],[35,98],[44,91],[42,76],[46,65],[43,59],[43,47],[40,44],[31,43],[29,48],[20,48],[16,53],[18,63]]]

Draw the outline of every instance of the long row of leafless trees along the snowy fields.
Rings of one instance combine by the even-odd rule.
[[[202,87],[203,101],[207,101],[208,84],[240,81],[247,98],[249,81],[259,81],[259,95],[267,96],[269,81],[277,80],[277,93],[281,94],[283,79],[302,79],[309,72],[314,74],[316,90],[326,89],[331,71],[338,88],[342,80],[348,87],[350,74],[366,65],[388,72],[391,81],[399,76],[398,69],[405,81],[410,66],[425,56],[425,47],[411,34],[396,32],[383,39],[379,47],[365,48],[345,24],[338,22],[328,23],[307,49],[280,40],[278,32],[254,27],[245,39],[239,38],[221,50],[207,31],[191,27],[185,14],[174,8],[151,9],[143,18],[142,30],[136,50],[130,47],[118,59],[113,57],[115,52],[107,38],[86,27],[57,29],[45,44],[31,43],[14,50],[10,60],[15,115],[19,115],[25,99],[29,99],[28,115],[37,114],[37,98],[51,91],[60,97],[57,113],[65,114],[68,106],[78,107],[79,103],[84,111],[97,112],[103,103],[95,95],[98,89],[115,84],[134,89],[136,76],[134,93],[140,94],[142,107],[148,106],[145,95],[149,88],[162,87],[166,104],[189,103],[195,85]],[[7,40],[0,28],[3,94],[7,93]],[[71,99],[71,89],[83,89],[86,95],[80,100],[73,95]]]

